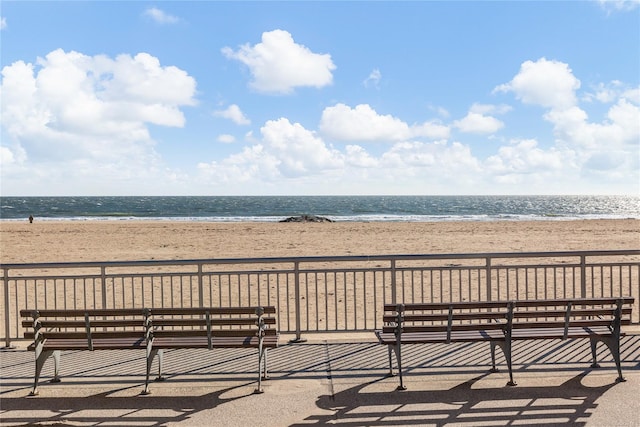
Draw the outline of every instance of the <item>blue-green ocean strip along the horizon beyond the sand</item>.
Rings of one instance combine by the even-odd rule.
[[[2,197],[0,220],[498,221],[640,219],[640,196]]]

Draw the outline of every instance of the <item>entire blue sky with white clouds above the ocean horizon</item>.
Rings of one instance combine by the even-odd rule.
[[[3,195],[640,194],[640,1],[5,1]]]

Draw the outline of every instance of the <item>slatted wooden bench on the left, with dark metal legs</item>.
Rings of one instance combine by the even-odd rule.
[[[258,388],[266,377],[266,350],[277,347],[275,307],[160,308],[97,310],[21,310],[24,337],[33,339],[36,370],[31,395],[45,361],[54,356],[54,377],[60,381],[60,353],[64,350],[144,350],[146,378],[142,394],[149,394],[151,365],[158,356],[161,380],[163,350],[169,348],[258,349]],[[263,375],[264,372],[264,375]]]

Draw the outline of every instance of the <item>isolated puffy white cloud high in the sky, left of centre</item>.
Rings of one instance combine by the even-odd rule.
[[[265,93],[287,94],[297,87],[330,85],[336,69],[331,55],[313,53],[283,30],[263,33],[262,42],[254,46],[245,44],[237,51],[225,47],[222,53],[249,67],[251,87]]]

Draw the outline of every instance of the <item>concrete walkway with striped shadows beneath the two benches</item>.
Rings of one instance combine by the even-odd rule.
[[[626,382],[602,347],[602,368],[589,368],[589,343],[518,342],[516,387],[506,367],[489,373],[488,344],[403,347],[406,391],[386,377],[387,351],[373,334],[309,336],[269,353],[271,378],[256,387],[249,350],[173,350],[167,380],[144,382],[143,352],[67,352],[63,381],[28,397],[33,353],[0,352],[3,426],[640,426],[640,334],[623,341]],[[24,345],[24,343],[18,343]],[[499,362],[503,360],[499,359]]]

